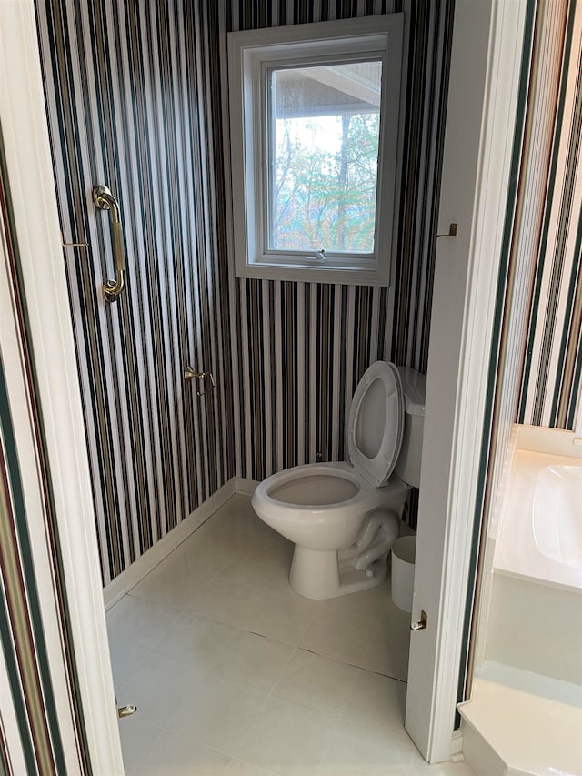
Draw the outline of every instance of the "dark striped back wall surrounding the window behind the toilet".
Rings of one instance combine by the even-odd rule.
[[[402,10],[409,29],[395,284],[386,289],[231,278],[239,476],[264,479],[315,461],[317,453],[324,460],[344,459],[349,404],[367,366],[384,358],[426,371],[452,5],[226,4],[229,31]],[[223,126],[227,136],[226,120]]]

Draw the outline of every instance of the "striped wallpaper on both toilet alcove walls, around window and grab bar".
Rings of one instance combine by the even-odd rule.
[[[346,455],[371,361],[426,367],[452,2],[37,0],[45,96],[106,584],[232,476]],[[396,282],[236,280],[227,242],[226,31],[406,12]],[[122,207],[128,284],[107,306]],[[187,363],[212,370],[196,398]]]

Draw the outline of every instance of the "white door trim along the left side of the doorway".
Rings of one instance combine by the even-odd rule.
[[[124,767],[32,0],[0,0],[0,122],[89,756],[114,776]]]

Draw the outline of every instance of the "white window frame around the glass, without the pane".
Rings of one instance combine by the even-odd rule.
[[[396,234],[404,14],[229,33],[228,86],[236,277],[388,286]],[[381,59],[376,230],[371,254],[270,250],[267,245],[267,72]],[[322,246],[326,248],[326,246]]]

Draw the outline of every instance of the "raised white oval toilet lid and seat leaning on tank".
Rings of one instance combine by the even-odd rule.
[[[394,364],[376,361],[359,381],[349,410],[349,457],[366,482],[384,485],[396,466],[404,432],[402,382]]]

